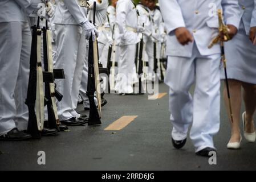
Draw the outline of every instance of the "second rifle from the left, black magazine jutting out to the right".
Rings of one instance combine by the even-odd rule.
[[[45,80],[44,85],[45,97],[48,100],[48,102],[46,103],[48,114],[47,124],[49,128],[56,128],[59,131],[60,121],[58,117],[55,97],[58,99],[58,101],[61,101],[63,96],[55,89],[54,78],[64,78],[64,72],[63,69],[58,69],[58,71],[55,71],[54,74],[51,47],[51,31],[48,28],[47,20],[46,26],[43,27],[43,63],[44,74],[51,75],[52,77],[50,81]]]

